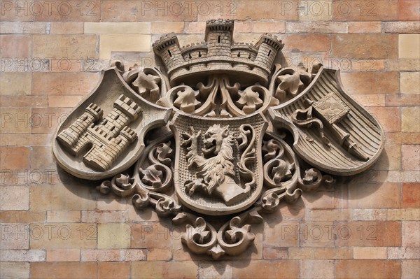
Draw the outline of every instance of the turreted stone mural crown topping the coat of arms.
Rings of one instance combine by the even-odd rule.
[[[204,42],[179,47],[174,33],[153,44],[165,64],[171,85],[196,83],[203,76],[223,74],[241,85],[267,84],[276,55],[283,43],[264,34],[253,45],[233,41],[234,20],[209,20]]]

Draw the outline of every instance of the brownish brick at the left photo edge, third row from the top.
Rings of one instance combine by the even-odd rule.
[[[0,57],[3,59],[31,59],[31,48],[30,35],[0,35]]]

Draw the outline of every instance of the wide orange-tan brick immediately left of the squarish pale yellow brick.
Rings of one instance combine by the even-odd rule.
[[[81,249],[97,247],[96,224],[31,224],[31,249]]]

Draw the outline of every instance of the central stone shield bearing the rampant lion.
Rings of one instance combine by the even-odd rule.
[[[262,191],[262,144],[267,120],[260,113],[221,120],[176,113],[175,190],[183,205],[207,215],[251,206]]]

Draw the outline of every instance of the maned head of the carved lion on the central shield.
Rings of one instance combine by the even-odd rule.
[[[202,151],[204,155],[218,155],[223,149],[223,143],[226,143],[225,141],[230,143],[232,140],[233,137],[229,131],[229,126],[221,127],[220,124],[214,124],[204,134],[204,148],[202,148]]]

